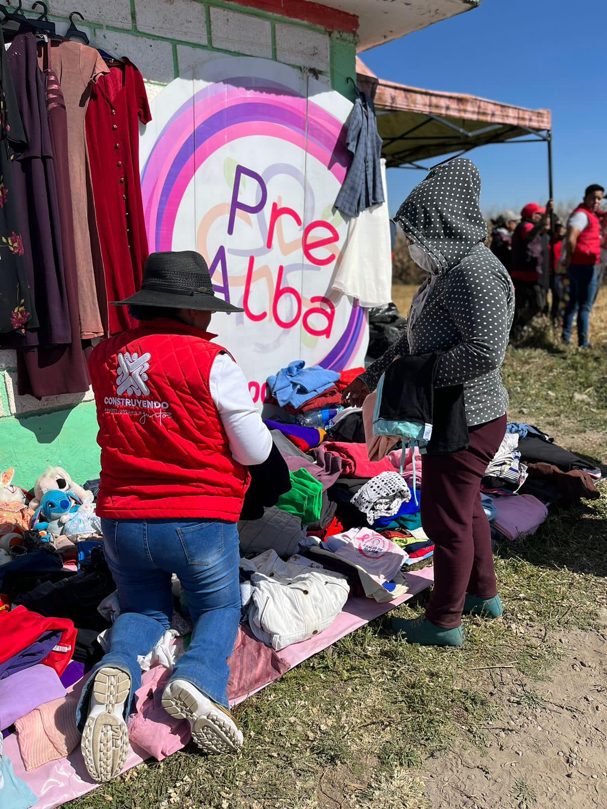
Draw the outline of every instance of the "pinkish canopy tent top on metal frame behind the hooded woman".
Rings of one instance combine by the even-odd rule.
[[[359,88],[376,105],[377,129],[386,165],[422,168],[419,161],[453,155],[488,143],[548,144],[550,197],[552,157],[550,110],[531,110],[475,95],[421,90],[377,78],[359,58]]]

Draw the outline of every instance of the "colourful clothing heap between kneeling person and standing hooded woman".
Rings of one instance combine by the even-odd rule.
[[[243,622],[274,650],[330,625],[348,595],[405,595],[402,570],[434,552],[421,527],[418,449],[417,464],[411,449],[369,460],[363,410],[342,408],[362,371],[295,361],[267,382],[274,447],[251,469],[238,527]]]

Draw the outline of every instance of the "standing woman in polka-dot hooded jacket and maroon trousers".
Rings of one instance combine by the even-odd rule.
[[[393,621],[409,642],[461,646],[462,613],[498,617],[499,599],[481,481],[506,433],[508,396],[499,368],[514,315],[505,267],[485,246],[481,180],[467,159],[435,167],[395,220],[413,260],[428,273],[415,295],[407,332],[344,392],[359,405],[394,358],[439,355],[435,388],[464,386],[469,446],[422,456],[422,526],[435,543],[435,585],[425,616]]]

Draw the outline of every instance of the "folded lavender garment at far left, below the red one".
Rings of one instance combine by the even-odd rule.
[[[0,688],[0,730],[13,725],[45,702],[66,696],[66,689],[50,666],[32,666],[2,680]]]

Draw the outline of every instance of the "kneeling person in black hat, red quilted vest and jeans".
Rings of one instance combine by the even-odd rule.
[[[126,304],[138,328],[100,343],[89,363],[100,428],[97,512],[121,605],[108,654],[78,709],[84,760],[96,781],[125,764],[138,656],[169,629],[173,573],[193,633],[163,707],[189,720],[205,752],[242,745],[226,695],[240,621],[236,522],[246,467],[263,463],[272,447],[242,371],[206,331],[212,312],[242,310],[214,297],[202,256],[153,253],[142,290],[117,305]]]

